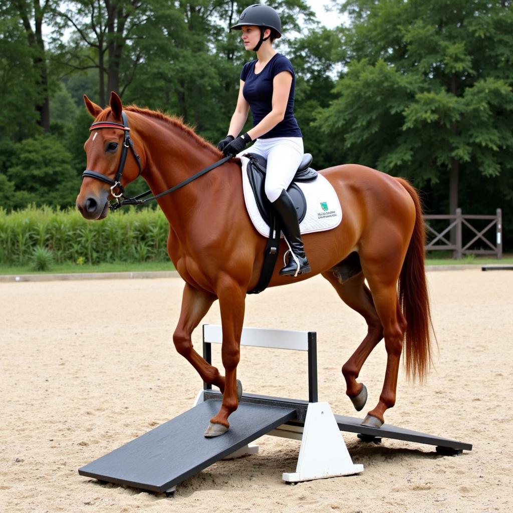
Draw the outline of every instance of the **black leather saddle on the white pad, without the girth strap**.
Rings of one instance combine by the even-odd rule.
[[[264,190],[265,175],[267,171],[267,159],[256,153],[245,153],[249,159],[247,165],[247,174],[251,189],[257,201],[257,207],[264,221],[271,226],[271,202],[267,199]],[[310,153],[305,153],[303,160],[296,171],[287,192],[298,211],[299,222],[303,221],[306,215],[306,199],[303,191],[295,185],[294,182],[311,182],[317,178],[317,171],[310,167],[313,157]]]

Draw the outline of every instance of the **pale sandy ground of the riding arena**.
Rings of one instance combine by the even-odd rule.
[[[264,436],[258,455],[212,465],[173,498],[99,484],[77,469],[191,406],[200,378],[171,340],[183,282],[1,284],[0,511],[510,510],[513,273],[429,272],[428,280],[436,368],[424,386],[408,384],[401,371],[386,422],[471,443],[472,451],[441,457],[432,446],[365,444],[345,433],[363,473],[290,486],[281,476],[295,470],[299,442]],[[220,323],[217,304],[205,322]],[[248,297],[245,325],[317,331],[320,399],[357,415],[340,368],[365,325],[327,282],[313,278]],[[196,347],[200,340],[198,329]],[[369,408],[384,370],[381,343],[361,373]],[[304,353],[242,350],[247,392],[306,399],[306,376]]]

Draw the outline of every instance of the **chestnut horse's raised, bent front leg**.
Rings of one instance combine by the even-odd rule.
[[[223,392],[225,379],[216,367],[207,363],[194,350],[191,340],[194,328],[205,317],[215,299],[215,295],[197,290],[188,283],[185,284],[182,310],[178,325],[173,333],[173,342],[176,350],[198,371],[203,381],[219,387]]]

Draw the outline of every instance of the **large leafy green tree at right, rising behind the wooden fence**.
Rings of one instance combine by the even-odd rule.
[[[513,173],[511,0],[348,0],[340,29],[347,69],[318,124],[351,158],[412,176]],[[509,180],[508,180],[509,182]],[[512,192],[512,191],[510,191]]]

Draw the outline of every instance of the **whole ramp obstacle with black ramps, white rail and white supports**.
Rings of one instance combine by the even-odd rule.
[[[203,353],[211,362],[211,344],[221,343],[221,326],[203,326]],[[262,435],[301,440],[295,472],[284,472],[286,482],[308,481],[359,473],[340,431],[359,433],[363,441],[394,438],[437,446],[441,454],[457,454],[470,444],[433,437],[384,424],[362,426],[362,419],[333,415],[326,402],[318,402],[316,333],[308,331],[244,328],[241,345],[308,351],[309,400],[294,400],[243,393],[239,408],[230,416],[230,429],[222,436],[205,438],[205,421],[219,410],[222,394],[205,384],[194,406],[78,470],[82,476],[171,495],[177,484],[212,463],[258,452],[248,444]]]

